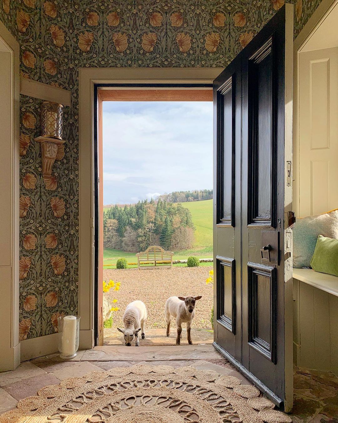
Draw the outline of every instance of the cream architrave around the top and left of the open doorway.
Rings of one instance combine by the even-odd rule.
[[[79,69],[79,306],[80,345],[95,346],[95,86],[212,84],[224,68]],[[96,237],[98,233],[96,234]],[[96,269],[97,271],[97,269]],[[97,317],[96,317],[97,318]]]

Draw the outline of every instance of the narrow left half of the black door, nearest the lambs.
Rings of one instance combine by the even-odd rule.
[[[214,88],[214,333],[220,345],[226,345],[229,354],[240,360],[241,203],[236,195],[241,166],[241,70],[236,60],[222,72]],[[239,335],[235,337],[236,333]]]

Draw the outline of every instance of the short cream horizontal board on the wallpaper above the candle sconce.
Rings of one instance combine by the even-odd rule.
[[[63,106],[71,105],[70,91],[22,77],[20,78],[20,95],[63,104]]]

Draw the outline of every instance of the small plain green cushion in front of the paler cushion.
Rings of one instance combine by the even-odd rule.
[[[310,265],[316,272],[338,276],[338,239],[319,235]]]

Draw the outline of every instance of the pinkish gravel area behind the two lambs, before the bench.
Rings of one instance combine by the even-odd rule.
[[[114,312],[114,327],[121,327],[122,316],[126,305],[140,299],[147,307],[147,327],[164,328],[164,305],[166,299],[173,295],[186,297],[187,295],[202,295],[196,301],[196,314],[193,327],[210,328],[210,315],[213,307],[213,288],[206,285],[212,266],[173,267],[162,269],[105,269],[104,280],[121,282],[120,291],[110,290],[104,295],[112,302],[117,299],[119,311]],[[172,321],[174,327],[174,322]],[[185,326],[185,325],[184,325]]]

